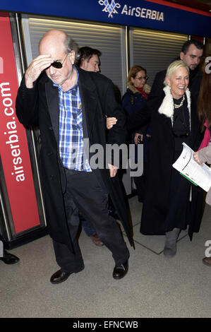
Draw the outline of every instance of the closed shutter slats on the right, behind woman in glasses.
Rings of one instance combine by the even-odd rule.
[[[139,28],[131,28],[130,37],[131,66],[143,66],[147,70],[147,83],[150,85],[158,71],[166,69],[179,57],[183,43],[188,40],[187,35]]]

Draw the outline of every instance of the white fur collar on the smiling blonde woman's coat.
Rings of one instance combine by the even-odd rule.
[[[158,112],[159,114],[164,114],[167,117],[171,118],[171,123],[173,124],[173,115],[174,115],[174,100],[173,96],[171,95],[171,88],[169,85],[164,87],[164,93],[165,97],[164,100],[162,101],[162,104],[160,105]],[[191,125],[191,93],[190,90],[187,88],[186,89],[186,96],[187,96],[187,101],[188,101],[188,111],[189,111],[189,116],[190,116],[190,125]]]

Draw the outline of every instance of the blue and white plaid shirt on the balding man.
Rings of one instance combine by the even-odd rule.
[[[59,153],[64,167],[69,170],[92,172],[84,155],[83,112],[77,70],[76,73],[76,84],[66,92],[53,83],[59,90]]]

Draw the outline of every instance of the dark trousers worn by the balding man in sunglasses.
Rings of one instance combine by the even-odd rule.
[[[93,225],[97,235],[111,251],[116,265],[124,263],[129,257],[129,251],[116,220],[109,215],[108,192],[104,184],[99,182],[95,172],[66,170],[66,180],[64,201],[74,252],[68,245],[53,240],[56,262],[61,270],[77,272],[83,266],[77,241],[79,213]]]

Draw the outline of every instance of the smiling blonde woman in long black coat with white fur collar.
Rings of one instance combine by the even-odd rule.
[[[199,231],[203,209],[203,189],[191,184],[172,167],[183,150],[183,142],[198,150],[202,140],[197,97],[191,97],[188,82],[188,66],[183,61],[174,61],[167,69],[166,86],[161,95],[128,119],[128,128],[147,121],[152,128],[140,232],[166,235],[164,255],[167,257],[176,254],[180,230],[188,227],[190,239],[193,232]]]

